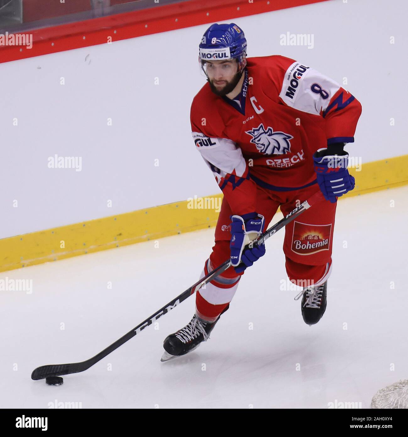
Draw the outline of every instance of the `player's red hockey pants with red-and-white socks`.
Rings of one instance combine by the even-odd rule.
[[[297,191],[271,191],[257,186],[256,212],[265,217],[267,229],[278,207],[287,215],[296,206],[307,200],[318,190],[316,184]],[[303,212],[285,227],[283,251],[286,258],[286,273],[289,280],[300,286],[319,285],[331,273],[334,218],[337,203],[322,200]],[[230,223],[232,211],[225,198],[221,205],[216,229],[215,245],[206,260],[201,277],[222,264],[230,256]],[[273,240],[267,241],[270,243]],[[267,247],[266,247],[267,249]],[[268,250],[264,257],[268,256]],[[250,271],[250,267],[247,271]],[[197,291],[196,314],[202,319],[214,321],[232,300],[242,273],[233,267]]]

